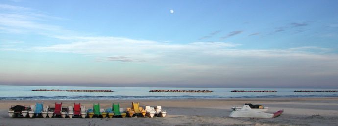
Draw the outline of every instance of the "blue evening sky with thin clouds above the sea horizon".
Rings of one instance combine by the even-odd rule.
[[[338,88],[338,0],[0,0],[0,85]]]

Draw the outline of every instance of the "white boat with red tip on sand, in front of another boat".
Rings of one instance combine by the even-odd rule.
[[[248,117],[248,118],[274,118],[283,113],[283,110],[277,111],[274,114],[265,113],[260,110],[251,109],[249,105],[244,105],[241,109],[234,109],[230,113],[230,117]]]

